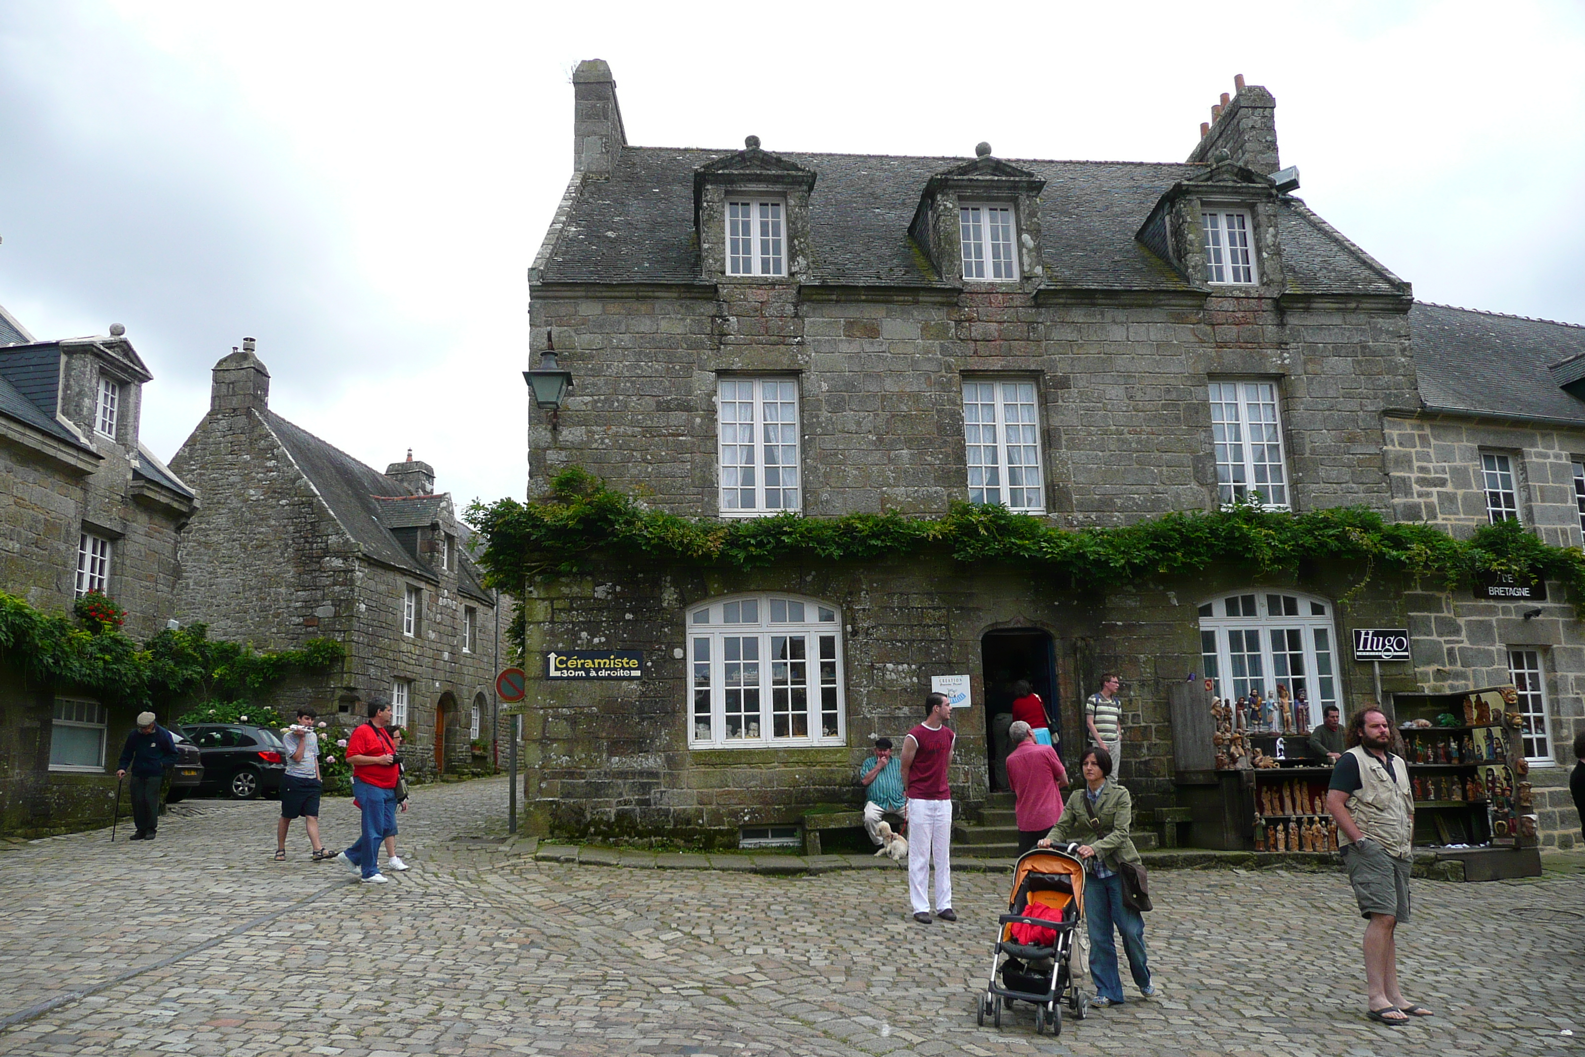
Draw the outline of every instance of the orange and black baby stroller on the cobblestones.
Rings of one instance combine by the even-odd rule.
[[[1010,913],[997,919],[980,1027],[986,1017],[1002,1027],[1002,1006],[1014,1000],[1033,1003],[1037,1035],[1046,1028],[1062,1035],[1064,1003],[1076,1021],[1089,1011],[1089,997],[1073,979],[1073,935],[1084,921],[1084,864],[1075,848],[1035,848],[1013,867]]]

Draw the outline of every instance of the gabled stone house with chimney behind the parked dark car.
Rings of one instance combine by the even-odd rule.
[[[281,691],[282,712],[309,702],[350,724],[387,696],[415,773],[493,748],[495,597],[428,463],[409,452],[380,474],[271,412],[249,338],[214,366],[209,414],[171,464],[204,498],[182,534],[178,616],[260,650],[347,648],[339,672]]]

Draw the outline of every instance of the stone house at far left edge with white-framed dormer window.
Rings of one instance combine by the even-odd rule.
[[[138,439],[152,376],[125,328],[109,331],[35,341],[0,309],[0,588],[67,613],[101,591],[143,640],[173,615],[176,540],[195,502]],[[108,819],[116,753],[135,713],[30,686],[0,666],[0,826]]]

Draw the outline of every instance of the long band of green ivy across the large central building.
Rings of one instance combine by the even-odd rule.
[[[472,504],[468,521],[485,539],[485,583],[518,593],[525,583],[579,575],[605,558],[754,569],[785,559],[865,561],[938,555],[964,563],[1011,563],[1057,583],[1105,593],[1154,577],[1239,563],[1257,574],[1297,572],[1317,561],[1355,563],[1360,586],[1387,569],[1453,590],[1480,572],[1539,575],[1569,588],[1585,616],[1585,553],[1550,547],[1517,521],[1453,539],[1425,523],[1388,523],[1365,507],[1306,513],[1236,504],[1163,513],[1119,528],[1064,529],[999,506],[953,504],[945,517],[780,513],[723,521],[651,510],[582,471],[566,469],[537,502]],[[514,621],[521,645],[521,616]]]

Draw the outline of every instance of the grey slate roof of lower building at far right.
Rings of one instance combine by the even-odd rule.
[[[1585,401],[1558,388],[1550,371],[1585,355],[1585,326],[1417,301],[1409,331],[1428,407],[1585,426]]]

